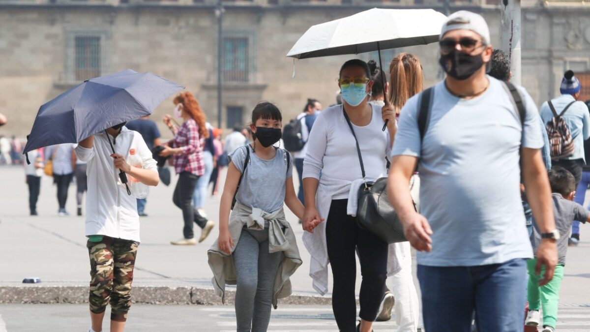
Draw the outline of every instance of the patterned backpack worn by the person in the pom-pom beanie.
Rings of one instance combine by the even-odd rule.
[[[563,114],[572,106],[574,102],[565,106],[561,113],[557,113],[551,100],[548,101],[549,108],[553,112],[553,119],[548,122],[545,128],[549,136],[549,148],[551,152],[551,160],[560,160],[563,158],[571,157],[573,155],[573,138],[572,133],[569,131],[568,125],[563,119]]]

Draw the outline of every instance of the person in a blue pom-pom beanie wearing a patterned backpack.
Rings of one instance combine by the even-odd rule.
[[[576,188],[582,180],[582,167],[586,164],[584,155],[584,141],[590,138],[590,114],[588,106],[581,100],[580,92],[582,84],[574,75],[573,71],[568,70],[563,74],[559,92],[561,96],[544,102],[540,109],[540,115],[543,123],[546,125],[552,122],[555,112],[560,115],[569,129],[573,140],[573,154],[569,157],[556,157],[552,151],[553,167],[563,167],[572,173],[576,180]],[[553,109],[552,109],[553,108]],[[563,113],[565,112],[565,113]],[[563,113],[563,114],[562,114]],[[584,197],[579,198],[584,200]],[[563,235],[565,236],[565,235]],[[579,223],[572,228],[571,243],[577,244],[580,240]]]

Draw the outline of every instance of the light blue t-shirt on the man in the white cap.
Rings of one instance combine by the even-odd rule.
[[[526,108],[524,130],[503,83],[474,99],[434,87],[430,121],[421,141],[418,96],[401,110],[392,155],[419,157],[421,213],[434,234],[430,266],[478,266],[532,258],[520,200],[520,144],[543,147],[535,102],[519,88]]]

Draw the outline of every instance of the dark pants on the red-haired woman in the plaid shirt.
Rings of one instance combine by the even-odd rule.
[[[184,220],[184,227],[182,233],[185,239],[192,239],[195,233],[192,231],[192,223],[195,222],[199,227],[205,227],[207,219],[199,211],[192,206],[192,194],[195,192],[196,180],[199,180],[198,175],[191,172],[182,172],[178,176],[178,182],[174,189],[172,201],[175,206],[182,210],[182,219]]]

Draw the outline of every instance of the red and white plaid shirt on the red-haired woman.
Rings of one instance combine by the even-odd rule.
[[[188,119],[182,123],[170,146],[182,150],[182,154],[175,154],[172,157],[176,174],[191,172],[200,177],[205,173],[203,144],[199,137],[199,126],[194,119]]]

